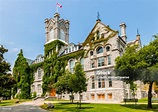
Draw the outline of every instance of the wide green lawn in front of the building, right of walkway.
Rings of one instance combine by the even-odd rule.
[[[82,104],[82,109],[77,107],[77,104],[70,104],[69,102],[52,102],[55,106],[54,109],[49,109],[52,112],[158,112],[158,104],[153,105],[153,109],[149,110],[146,104],[94,104],[94,103],[84,103]],[[41,106],[47,109],[47,105]],[[48,109],[47,109],[48,110]]]

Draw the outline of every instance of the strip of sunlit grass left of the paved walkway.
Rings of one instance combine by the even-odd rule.
[[[31,100],[32,99],[21,99],[19,101],[19,103],[26,102],[26,101],[31,101]],[[1,103],[0,103],[0,106],[10,106],[10,105],[18,104],[18,103],[15,103],[16,101],[18,101],[18,99],[2,100]]]

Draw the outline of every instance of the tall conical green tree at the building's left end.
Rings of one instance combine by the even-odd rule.
[[[33,82],[33,76],[30,73],[30,67],[28,65],[26,58],[23,56],[22,50],[20,50],[20,53],[18,54],[18,57],[15,61],[13,68],[13,76],[17,81],[17,84],[14,87],[14,94],[17,92],[17,89],[19,89],[21,98],[30,98],[30,86]]]

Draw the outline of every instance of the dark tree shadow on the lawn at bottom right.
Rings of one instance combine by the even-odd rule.
[[[158,104],[153,104],[152,105],[152,109],[149,109],[147,107],[147,104],[126,104],[126,105],[121,105],[123,107],[127,107],[127,108],[132,108],[132,109],[138,109],[138,110],[150,110],[153,112],[158,112]]]

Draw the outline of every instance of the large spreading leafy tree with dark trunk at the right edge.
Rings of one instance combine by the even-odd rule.
[[[136,46],[127,47],[122,57],[116,58],[115,71],[119,76],[129,76],[127,83],[140,80],[149,84],[148,108],[152,108],[152,85],[158,81],[158,36],[139,51]]]

